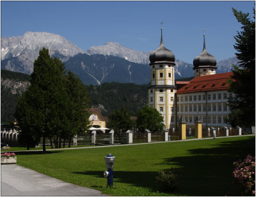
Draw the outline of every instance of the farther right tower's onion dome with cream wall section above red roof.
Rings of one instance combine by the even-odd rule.
[[[216,58],[210,55],[205,48],[205,34],[203,51],[200,55],[195,57],[193,65],[195,77],[216,74]]]

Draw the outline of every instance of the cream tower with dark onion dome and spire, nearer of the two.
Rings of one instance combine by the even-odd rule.
[[[175,56],[171,50],[164,47],[163,28],[161,28],[161,43],[150,52],[150,87],[148,87],[148,106],[156,108],[164,117],[167,129],[175,121]]]

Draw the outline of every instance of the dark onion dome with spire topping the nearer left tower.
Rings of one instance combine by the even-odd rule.
[[[163,64],[163,63],[175,65],[175,63],[174,63],[175,56],[174,56],[173,52],[171,50],[167,49],[166,47],[164,47],[162,29],[163,28],[161,28],[161,43],[160,43],[159,47],[157,48],[157,50],[150,52],[150,55],[149,55],[150,64],[149,65]]]

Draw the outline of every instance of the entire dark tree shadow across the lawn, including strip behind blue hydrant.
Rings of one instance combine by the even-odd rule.
[[[234,161],[244,159],[247,154],[255,155],[255,138],[220,142],[215,140],[215,147],[209,149],[190,149],[188,156],[164,158],[162,163],[172,168],[179,175],[179,186],[172,194],[175,196],[225,196],[240,195],[232,184]],[[143,168],[143,166],[141,166]],[[163,169],[164,171],[170,170]],[[74,171],[73,173],[103,178],[103,171]],[[157,171],[115,171],[115,182],[131,184],[135,187],[145,187],[157,191]],[[100,187],[100,186],[93,186]],[[171,193],[170,193],[171,194]]]

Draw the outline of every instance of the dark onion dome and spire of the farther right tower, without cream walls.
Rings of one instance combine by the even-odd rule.
[[[194,64],[193,69],[196,69],[199,67],[216,68],[216,58],[210,55],[205,48],[205,34],[204,34],[204,49],[200,55],[195,57],[193,64]]]

